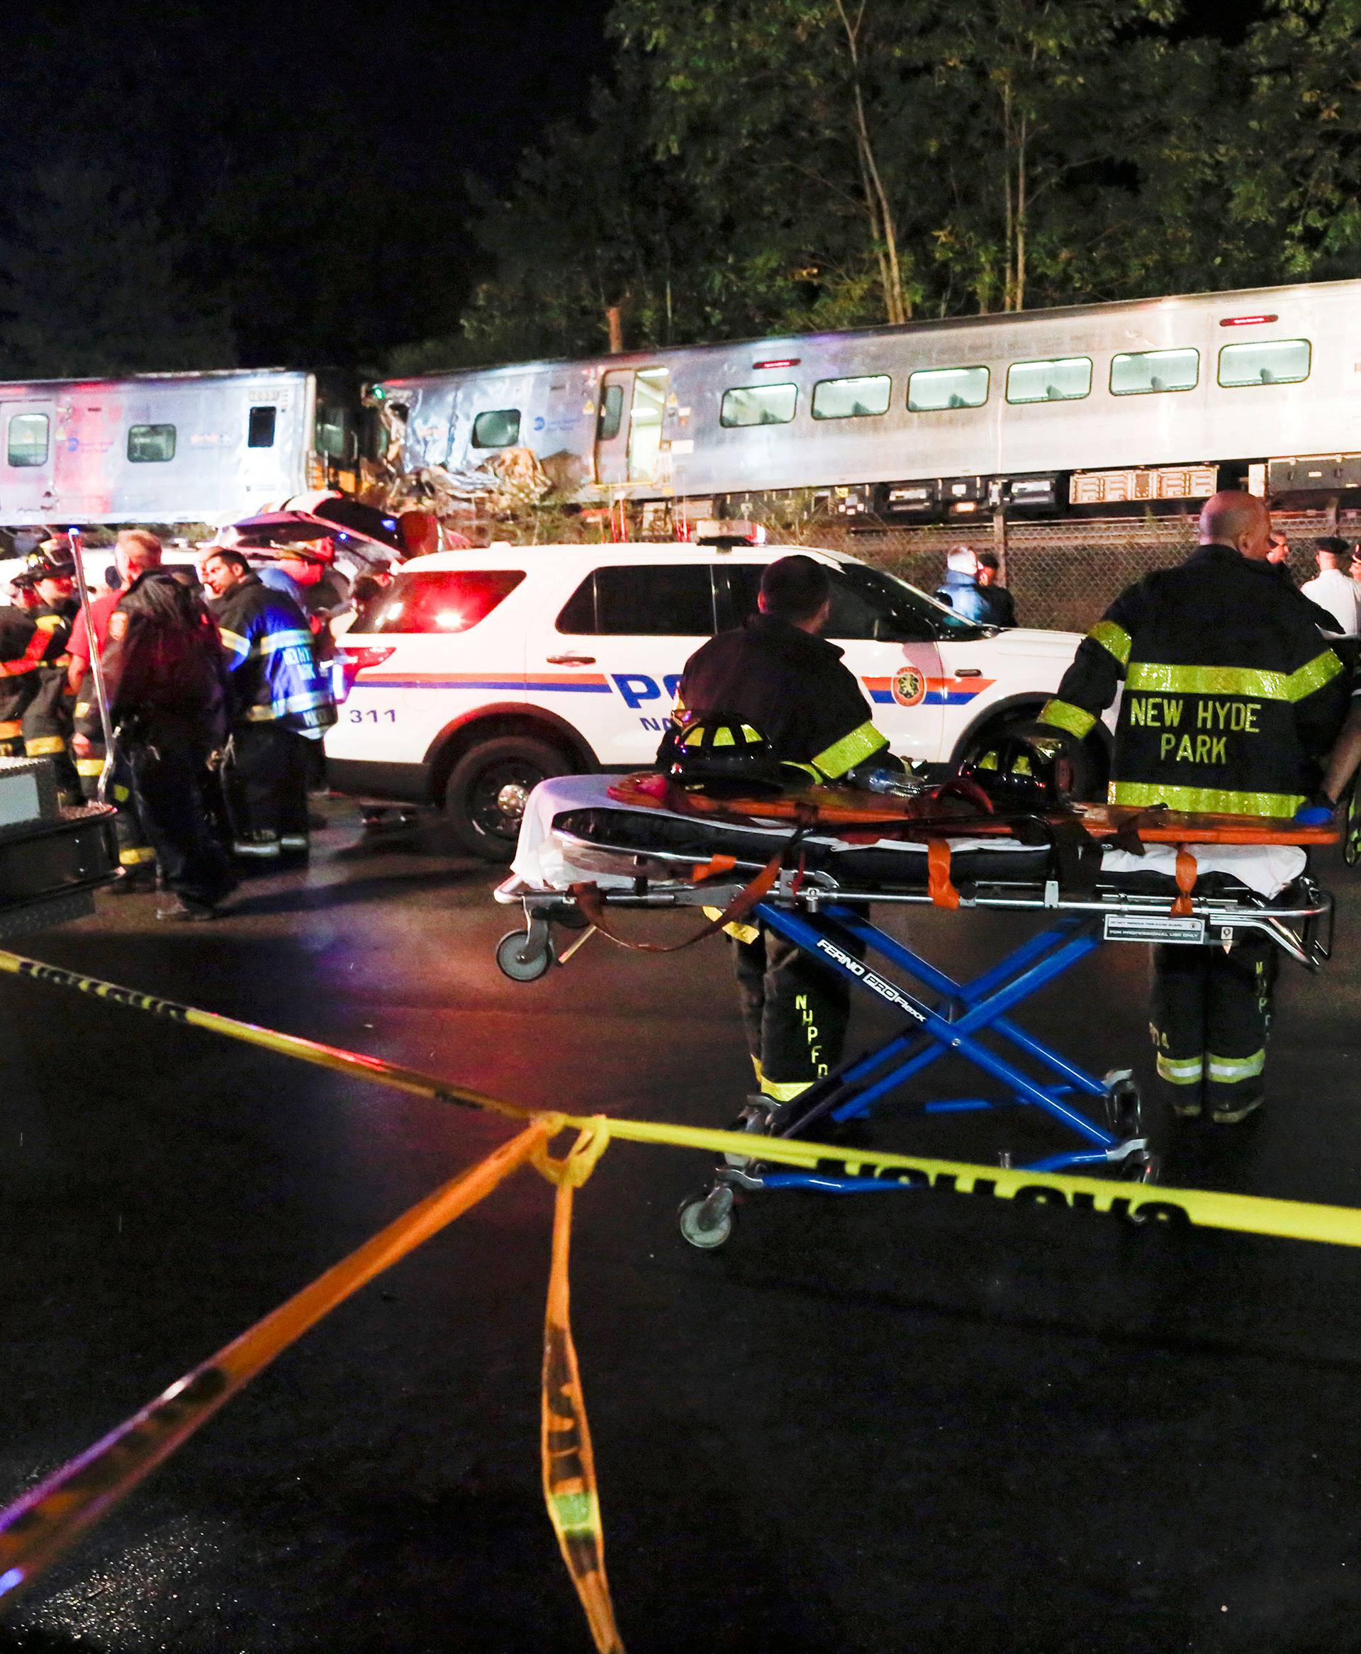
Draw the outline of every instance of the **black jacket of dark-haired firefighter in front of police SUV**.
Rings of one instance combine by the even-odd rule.
[[[829,781],[888,751],[842,650],[762,614],[690,657],[676,710],[751,724],[777,758],[812,764]]]

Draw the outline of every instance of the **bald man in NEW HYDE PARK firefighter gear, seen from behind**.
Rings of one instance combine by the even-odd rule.
[[[1131,586],[1078,645],[1040,721],[1082,741],[1116,696],[1111,804],[1292,817],[1346,713],[1346,673],[1270,559],[1255,495],[1206,501],[1179,569]],[[1270,943],[1154,951],[1151,1030],[1174,1115],[1235,1125],[1265,1097]]]

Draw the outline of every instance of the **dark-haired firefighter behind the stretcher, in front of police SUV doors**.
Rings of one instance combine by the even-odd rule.
[[[676,729],[663,739],[660,761],[685,751],[686,731],[718,724],[719,734],[736,731],[729,741],[759,734],[809,782],[853,779],[862,766],[901,769],[842,665],[842,650],[819,637],[830,610],[832,584],[820,562],[795,554],[769,564],[759,614],[709,638],[686,662]],[[734,925],[729,935],[762,1100],[789,1103],[840,1060],[850,987],[764,926]]]

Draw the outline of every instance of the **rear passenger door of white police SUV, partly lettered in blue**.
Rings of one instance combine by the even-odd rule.
[[[622,547],[637,559],[637,547]],[[711,559],[602,556],[556,619],[529,640],[526,678],[579,683],[571,718],[605,769],[650,764],[686,660],[713,637]],[[567,700],[567,696],[561,696]],[[559,696],[554,696],[559,705]]]

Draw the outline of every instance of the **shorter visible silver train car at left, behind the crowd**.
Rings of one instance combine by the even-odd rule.
[[[357,390],[286,369],[0,384],[0,528],[222,524],[352,491]]]

